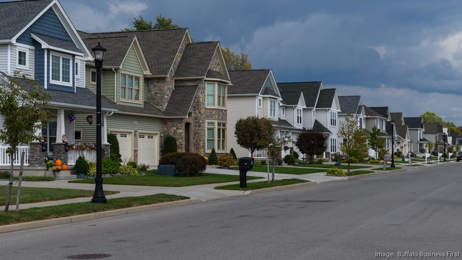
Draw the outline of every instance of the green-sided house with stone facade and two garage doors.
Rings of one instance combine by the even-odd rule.
[[[107,49],[103,95],[118,109],[107,131],[117,136],[125,160],[157,165],[167,135],[177,139],[179,151],[228,151],[230,79],[219,42],[193,43],[187,28],[80,35],[88,48],[101,42]],[[94,71],[88,62],[92,90]],[[83,118],[76,124],[82,140],[93,140]]]

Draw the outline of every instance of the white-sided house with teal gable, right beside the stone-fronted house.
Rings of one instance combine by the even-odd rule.
[[[233,85],[228,87],[227,95],[228,151],[233,148],[238,157],[250,156],[248,150],[237,144],[234,134],[236,122],[241,118],[268,118],[280,135],[297,131],[280,118],[281,94],[271,69],[231,70],[229,76]],[[267,158],[266,151],[255,151],[254,158]]]

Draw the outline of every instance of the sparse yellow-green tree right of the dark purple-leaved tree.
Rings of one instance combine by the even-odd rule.
[[[347,154],[350,158],[354,157],[362,161],[368,157],[367,136],[358,125],[358,119],[352,115],[347,115],[344,121],[341,121],[338,128],[338,136],[346,139],[346,142],[340,144],[340,151]]]

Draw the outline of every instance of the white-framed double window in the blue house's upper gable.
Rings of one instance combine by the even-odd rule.
[[[57,54],[52,52],[50,55],[50,60],[50,83],[72,86],[72,57],[65,54]]]

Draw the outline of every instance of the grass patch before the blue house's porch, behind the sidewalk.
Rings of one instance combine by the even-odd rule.
[[[115,191],[104,192],[106,195],[119,193]],[[20,203],[25,204],[50,200],[92,197],[93,193],[94,191],[85,190],[21,187]],[[7,194],[8,187],[5,187],[0,190],[0,206],[5,206]],[[16,205],[16,195],[17,187],[13,187],[13,189],[11,190],[10,205]]]

